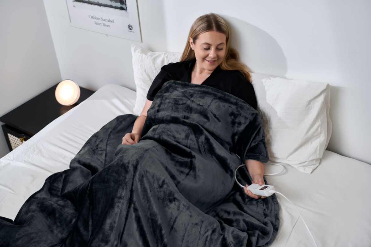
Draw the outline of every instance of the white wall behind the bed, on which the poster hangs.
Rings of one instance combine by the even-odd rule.
[[[44,0],[62,79],[135,89],[132,41],[69,26],[65,0]],[[328,149],[371,163],[371,2],[367,0],[138,0],[145,49],[183,50],[193,21],[220,14],[253,72],[331,85]]]

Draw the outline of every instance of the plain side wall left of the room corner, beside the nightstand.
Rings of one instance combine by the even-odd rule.
[[[0,16],[2,116],[55,85],[61,77],[43,1],[1,0]],[[1,158],[9,148],[0,132]]]

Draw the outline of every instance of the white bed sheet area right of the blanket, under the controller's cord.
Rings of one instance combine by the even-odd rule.
[[[326,150],[312,174],[283,165],[283,173],[266,179],[298,208],[319,247],[371,246],[369,164]],[[277,197],[280,228],[272,246],[314,247],[298,212]]]

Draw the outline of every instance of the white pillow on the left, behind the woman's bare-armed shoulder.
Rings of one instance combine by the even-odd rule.
[[[151,52],[131,45],[133,56],[134,82],[137,86],[137,99],[135,100],[134,114],[140,115],[147,99],[148,89],[152,84],[161,67],[168,63],[180,60],[181,53],[175,52]]]

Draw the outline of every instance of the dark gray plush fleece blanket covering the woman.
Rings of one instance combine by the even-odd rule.
[[[243,100],[168,81],[142,138],[121,145],[137,116],[95,133],[68,170],[46,179],[0,246],[268,246],[279,227],[275,195],[255,200],[234,183],[246,159],[268,160],[262,121]],[[237,157],[237,155],[241,157]],[[246,168],[241,183],[250,183]]]

